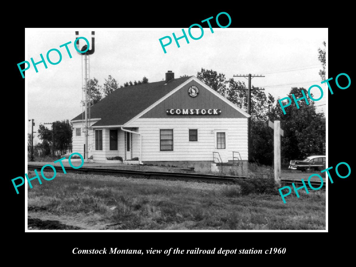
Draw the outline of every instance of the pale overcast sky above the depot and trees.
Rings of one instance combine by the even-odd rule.
[[[80,29],[49,30],[27,29],[27,54],[25,60],[41,60],[40,53],[46,58],[47,51],[57,48],[62,53],[62,61],[57,65],[38,64],[38,73],[31,65],[26,70],[28,119],[35,119],[35,131],[40,123],[56,120],[73,119],[82,112],[82,63],[81,56],[74,49],[75,31],[79,36],[88,38],[89,30],[95,30],[95,53],[90,56],[90,78],[97,78],[103,85],[105,78],[112,75],[119,85],[125,82],[142,80],[158,82],[165,78],[167,70],[172,70],[176,78],[180,75],[194,75],[201,68],[213,69],[223,73],[229,79],[234,74],[262,74],[264,78],[252,79],[252,85],[265,87],[265,93],[271,93],[276,99],[286,96],[291,87],[309,88],[320,85],[320,62],[318,48],[327,41],[327,29],[270,29],[253,30],[239,28],[204,28],[204,35],[189,44],[180,39],[180,48],[172,37],[172,32],[179,37],[182,30],[154,29]],[[192,30],[193,36],[200,35],[199,28]],[[158,41],[164,36],[171,36],[172,43],[166,47],[167,53]],[[60,45],[72,41],[68,48],[69,58]],[[82,41],[82,40],[81,40]],[[166,43],[168,40],[164,40]],[[84,45],[80,43],[80,47]],[[56,52],[50,53],[53,62],[58,61]],[[20,73],[19,73],[20,74]],[[241,79],[246,82],[245,78]],[[325,87],[324,88],[325,92]],[[315,96],[320,95],[313,89]],[[315,105],[325,104],[323,99]],[[325,106],[318,108],[325,111]],[[50,125],[49,125],[50,126]],[[48,126],[48,127],[49,127]],[[31,132],[31,124],[28,124]],[[36,135],[36,134],[35,134]]]

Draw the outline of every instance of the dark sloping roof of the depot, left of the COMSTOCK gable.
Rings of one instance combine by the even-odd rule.
[[[124,125],[190,77],[118,88],[90,107],[91,119],[101,119],[93,126]],[[85,111],[72,121],[82,120],[84,115]]]

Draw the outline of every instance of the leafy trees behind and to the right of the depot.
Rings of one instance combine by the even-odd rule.
[[[325,42],[323,42],[325,47]],[[318,59],[322,69],[320,78],[325,80],[325,48],[318,49]],[[244,82],[226,79],[225,74],[212,69],[201,68],[197,78],[210,88],[223,95],[226,99],[247,111],[247,89]],[[258,89],[253,87],[252,89]],[[246,89],[246,90],[236,90]],[[286,88],[287,89],[287,88]],[[283,115],[278,100],[271,94],[266,95],[261,90],[251,90],[251,158],[253,162],[271,165],[273,162],[273,130],[268,127],[268,120],[280,120],[284,136],[281,138],[281,161],[284,163],[292,159],[303,159],[311,155],[325,155],[325,116],[317,113],[314,101],[310,100],[308,90],[292,87],[295,98],[301,98],[304,91],[309,105],[304,100],[299,101],[299,109],[290,105]],[[313,96],[313,95],[312,95]]]

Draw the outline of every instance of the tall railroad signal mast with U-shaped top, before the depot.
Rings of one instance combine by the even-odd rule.
[[[79,37],[79,31],[75,32],[75,38]],[[75,44],[80,51],[87,50],[88,46],[84,45],[81,49],[79,48],[79,40]],[[85,135],[85,146],[84,146],[84,159],[88,160],[88,137],[89,137],[89,127],[90,127],[90,89],[88,91],[88,81],[90,80],[90,63],[89,55],[94,54],[95,45],[94,45],[94,31],[91,32],[91,48],[85,53],[79,53],[80,56],[84,56],[84,86],[82,88],[84,96],[82,94],[82,103],[85,107],[85,122],[83,123],[83,131]],[[82,82],[83,82],[83,58],[82,58]],[[88,102],[89,101],[89,102]],[[83,110],[83,109],[82,109]],[[82,112],[83,114],[83,112]],[[84,121],[84,118],[82,117]]]

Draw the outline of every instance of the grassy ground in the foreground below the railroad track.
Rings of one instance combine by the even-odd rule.
[[[244,188],[57,173],[28,187],[28,229],[325,229],[325,193],[291,194],[283,204],[277,189]]]

